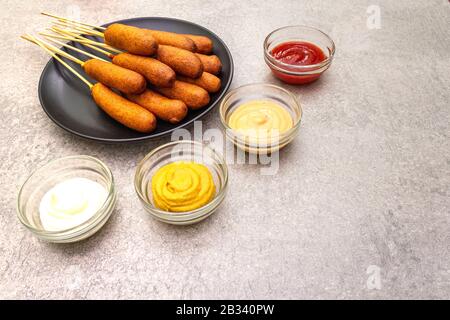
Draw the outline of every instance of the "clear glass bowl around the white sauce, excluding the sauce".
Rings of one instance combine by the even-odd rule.
[[[87,178],[103,185],[108,196],[102,207],[89,220],[70,229],[45,230],[41,224],[39,204],[45,193],[70,178]],[[33,172],[19,191],[17,214],[20,222],[40,239],[69,243],[86,239],[108,221],[116,205],[116,189],[111,170],[100,160],[80,155],[53,160]]]

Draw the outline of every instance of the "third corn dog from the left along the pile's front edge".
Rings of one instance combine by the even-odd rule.
[[[190,109],[196,110],[209,103],[208,92],[195,84],[175,80],[172,88],[156,88],[171,99],[183,101]]]

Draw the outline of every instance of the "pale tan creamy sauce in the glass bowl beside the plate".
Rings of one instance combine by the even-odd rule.
[[[231,113],[228,126],[259,140],[288,131],[293,126],[293,120],[285,108],[273,101],[252,100],[241,104]]]

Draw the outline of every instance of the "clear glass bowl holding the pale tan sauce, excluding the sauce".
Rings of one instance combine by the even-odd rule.
[[[271,139],[263,143],[252,140],[247,135],[232,129],[228,125],[231,115],[237,107],[250,100],[270,100],[285,108],[292,117],[292,128],[276,136],[271,136]],[[286,89],[273,84],[255,83],[243,85],[228,92],[220,103],[220,120],[225,129],[227,139],[241,150],[254,154],[269,154],[290,143],[298,132],[301,118],[302,108],[298,99]]]

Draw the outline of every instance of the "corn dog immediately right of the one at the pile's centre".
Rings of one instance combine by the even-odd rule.
[[[190,51],[160,45],[157,50],[157,58],[183,76],[198,78],[202,75],[202,62]]]

